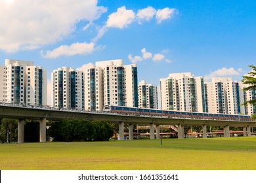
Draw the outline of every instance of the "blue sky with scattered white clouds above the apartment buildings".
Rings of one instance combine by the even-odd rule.
[[[256,1],[0,0],[0,64],[47,69],[124,59],[139,81],[169,73],[240,80],[256,58]]]

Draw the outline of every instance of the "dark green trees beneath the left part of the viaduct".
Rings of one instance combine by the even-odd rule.
[[[63,120],[47,122],[47,138],[53,141],[108,141],[114,134],[112,124],[105,121]],[[24,121],[24,142],[39,142],[39,121]],[[0,120],[0,142],[18,141],[18,120]]]

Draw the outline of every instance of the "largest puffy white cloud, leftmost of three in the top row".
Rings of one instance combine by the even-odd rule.
[[[122,29],[131,24],[135,19],[135,13],[133,10],[127,10],[125,7],[117,8],[117,12],[114,12],[108,16],[106,22],[107,27],[117,27]]]

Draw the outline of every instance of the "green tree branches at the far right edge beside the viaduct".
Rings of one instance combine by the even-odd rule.
[[[256,66],[249,65],[253,70],[248,73],[248,75],[243,76],[242,82],[247,84],[247,87],[244,88],[244,91],[254,90],[256,91]],[[245,101],[243,105],[247,104],[255,105],[256,99],[255,96],[252,97],[249,101]]]

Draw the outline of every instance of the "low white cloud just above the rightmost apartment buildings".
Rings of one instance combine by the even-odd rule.
[[[211,80],[214,77],[223,77],[223,76],[239,76],[242,73],[242,69],[234,69],[233,67],[226,68],[223,67],[218,69],[217,71],[213,71],[209,73],[209,75],[205,75],[203,78],[204,80]]]

